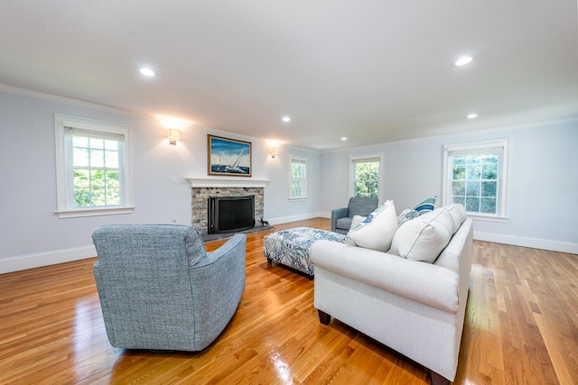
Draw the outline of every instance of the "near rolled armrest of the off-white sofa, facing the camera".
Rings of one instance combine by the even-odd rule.
[[[315,269],[329,270],[450,313],[459,310],[459,276],[441,266],[331,241],[313,243],[310,257]]]

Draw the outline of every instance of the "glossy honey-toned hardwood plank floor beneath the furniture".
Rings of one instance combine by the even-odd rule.
[[[328,219],[276,225],[275,231]],[[238,311],[200,353],[110,346],[96,259],[0,275],[0,383],[427,384],[427,371],[333,319],[320,324],[313,281],[267,265],[247,236]],[[207,243],[216,249],[222,241]],[[578,384],[578,255],[474,243],[458,384]]]

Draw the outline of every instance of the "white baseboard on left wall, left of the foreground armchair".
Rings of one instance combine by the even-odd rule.
[[[54,252],[40,252],[37,254],[20,255],[0,260],[0,274],[7,272],[40,268],[58,263],[85,260],[97,256],[94,246],[79,247],[76,249],[57,250]]]

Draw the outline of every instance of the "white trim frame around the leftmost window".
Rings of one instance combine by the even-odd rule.
[[[123,124],[113,124],[107,122],[98,122],[68,115],[54,115],[55,121],[55,140],[56,140],[56,197],[57,209],[56,214],[60,218],[75,218],[80,216],[95,215],[117,215],[130,214],[134,210],[132,206],[132,195],[130,187],[130,127]],[[125,144],[123,151],[123,206],[111,207],[73,207],[70,202],[70,183],[67,172],[67,146],[65,127],[74,127],[89,131],[116,133],[124,135]]]

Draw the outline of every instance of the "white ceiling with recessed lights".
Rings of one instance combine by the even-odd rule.
[[[327,151],[578,116],[576,18],[575,0],[0,0],[0,84]]]

